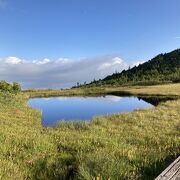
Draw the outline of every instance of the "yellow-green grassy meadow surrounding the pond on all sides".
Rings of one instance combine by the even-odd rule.
[[[180,84],[0,93],[0,179],[154,179],[180,154],[180,100],[56,128],[43,128],[27,105],[29,97],[113,92],[180,97]]]

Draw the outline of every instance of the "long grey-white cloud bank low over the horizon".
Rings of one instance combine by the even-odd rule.
[[[0,64],[0,79],[20,82],[25,89],[71,87],[77,82],[90,82],[128,68],[120,57],[112,56],[32,61],[7,57],[0,58]]]

